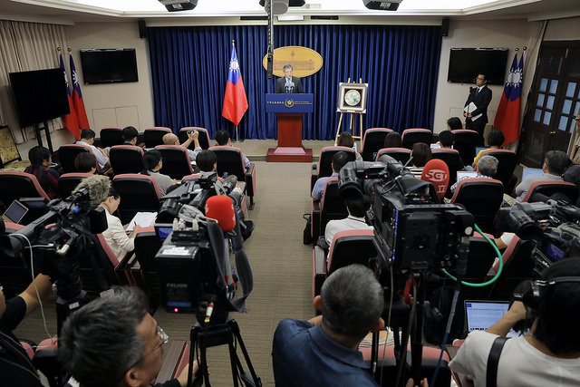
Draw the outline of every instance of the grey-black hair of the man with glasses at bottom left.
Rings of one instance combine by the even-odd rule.
[[[129,286],[113,292],[71,314],[58,338],[58,360],[83,387],[118,386],[145,350],[137,332],[148,313],[145,294]]]

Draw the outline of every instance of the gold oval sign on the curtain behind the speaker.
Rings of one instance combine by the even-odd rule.
[[[262,64],[267,70],[268,55],[264,56]],[[298,78],[304,78],[316,73],[323,67],[323,57],[313,49],[299,45],[286,45],[274,50],[273,73],[277,77],[283,77],[282,68],[285,64],[292,66],[292,74]]]

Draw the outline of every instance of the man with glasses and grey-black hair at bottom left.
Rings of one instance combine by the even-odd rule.
[[[71,314],[58,340],[58,359],[83,387],[149,386],[163,363],[169,337],[147,311],[138,287],[113,287]],[[186,368],[179,378],[156,386],[185,387]],[[194,363],[193,374],[198,371]]]

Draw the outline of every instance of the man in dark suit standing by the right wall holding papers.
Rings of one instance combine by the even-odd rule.
[[[465,117],[465,128],[479,133],[478,146],[484,146],[483,131],[488,123],[488,105],[491,102],[491,90],[488,88],[488,75],[486,73],[478,73],[476,78],[477,87],[469,88],[468,101],[465,102],[466,111],[463,112]],[[475,110],[469,107],[473,102],[476,106]],[[480,117],[478,115],[481,114]],[[475,118],[475,120],[473,120]]]

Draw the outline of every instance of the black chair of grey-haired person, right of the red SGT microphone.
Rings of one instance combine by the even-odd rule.
[[[451,203],[462,204],[475,218],[483,232],[493,234],[493,223],[504,200],[504,186],[496,179],[459,181]]]

